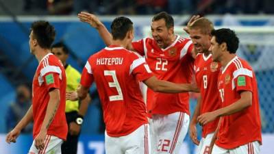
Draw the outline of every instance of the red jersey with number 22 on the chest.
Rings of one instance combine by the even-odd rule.
[[[144,38],[132,42],[134,50],[145,55],[149,68],[158,79],[178,84],[192,81],[193,64],[192,42],[177,36],[176,40],[166,49],[160,49],[153,38]],[[186,112],[189,114],[188,92],[166,94],[153,92],[147,88],[147,109],[149,114],[171,114]]]

